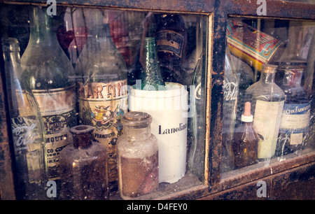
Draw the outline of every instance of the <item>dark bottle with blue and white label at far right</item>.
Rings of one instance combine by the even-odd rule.
[[[302,150],[307,143],[311,102],[301,80],[306,62],[290,60],[277,62],[279,86],[286,94],[279,129],[276,155],[287,155]]]

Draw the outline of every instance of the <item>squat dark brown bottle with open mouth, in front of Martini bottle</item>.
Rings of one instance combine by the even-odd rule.
[[[88,125],[70,129],[73,144],[59,158],[60,199],[109,199],[109,155],[104,145],[93,140],[93,129]]]

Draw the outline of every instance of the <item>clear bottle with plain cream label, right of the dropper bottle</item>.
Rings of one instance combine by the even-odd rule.
[[[246,101],[252,104],[253,128],[258,134],[258,159],[270,159],[276,151],[281,113],[286,95],[274,83],[276,65],[264,64],[260,80],[246,89]]]

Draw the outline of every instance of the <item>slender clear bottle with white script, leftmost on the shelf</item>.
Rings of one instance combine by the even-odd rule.
[[[3,38],[3,58],[13,134],[18,199],[47,199],[43,120],[29,85],[21,79],[20,47],[16,38]]]

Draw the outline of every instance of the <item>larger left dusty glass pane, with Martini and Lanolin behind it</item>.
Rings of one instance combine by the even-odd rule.
[[[208,15],[0,10],[45,127],[47,197],[155,199],[204,184]],[[128,111],[152,121],[134,127]]]

